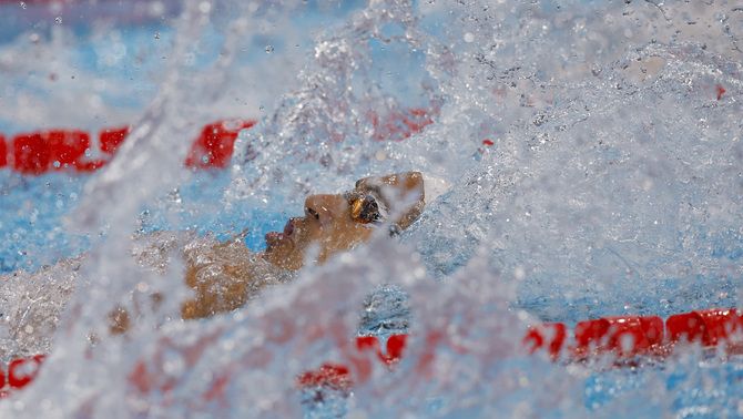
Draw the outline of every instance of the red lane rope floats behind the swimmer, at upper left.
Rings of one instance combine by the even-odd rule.
[[[205,125],[193,141],[185,165],[191,168],[224,168],[232,157],[241,130],[252,120],[216,121]],[[129,126],[103,129],[98,135],[100,159],[89,159],[91,135],[81,130],[43,130],[7,140],[0,134],[0,168],[8,166],[24,175],[51,171],[92,172],[105,165],[126,139]]]

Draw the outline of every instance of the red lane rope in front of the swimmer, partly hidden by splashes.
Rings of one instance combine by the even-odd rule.
[[[435,362],[434,350],[442,339],[434,335],[426,336],[426,347],[430,350],[424,350],[416,364],[418,374],[426,374]],[[570,335],[563,323],[543,323],[529,327],[521,343],[527,354],[542,352],[554,361],[581,362],[610,356],[614,357],[617,366],[637,365],[638,357],[662,360],[676,345],[688,344],[735,355],[743,352],[743,316],[734,308],[675,314],[665,321],[659,316],[611,316],[579,321],[571,338]],[[347,390],[354,384],[370,379],[374,360],[394,368],[405,355],[407,341],[408,335],[391,335],[383,350],[377,337],[359,336],[354,348],[356,352],[348,357],[349,364],[325,362],[297,376],[296,385]],[[458,351],[466,354],[466,349]],[[0,366],[0,399],[31,384],[43,360],[44,355],[35,355]],[[138,378],[130,379],[136,381]]]

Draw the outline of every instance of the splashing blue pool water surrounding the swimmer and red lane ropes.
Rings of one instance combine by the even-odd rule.
[[[131,4],[0,2],[6,139],[133,126],[94,173],[0,168],[0,274],[85,255],[2,417],[743,417],[743,362],[723,350],[618,368],[521,346],[538,321],[737,305],[740,4]],[[258,124],[228,167],[184,167],[199,129],[232,117]],[[165,304],[126,338],[92,337],[143,289],[185,293],[177,267],[123,256],[133,233],[247,228],[257,252],[307,194],[406,170],[449,187],[399,238],[228,315]],[[30,298],[19,275],[0,284],[10,304]],[[297,389],[350,362],[354,336],[401,333],[395,368]]]

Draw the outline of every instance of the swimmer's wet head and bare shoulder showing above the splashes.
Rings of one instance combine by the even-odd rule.
[[[367,242],[380,227],[405,229],[423,212],[424,198],[418,172],[366,177],[345,194],[311,195],[304,216],[289,218],[281,233],[266,234],[264,253],[251,255],[241,241],[233,241],[213,245],[206,258],[202,254],[186,257],[185,282],[195,297],[182,305],[181,316],[203,318],[233,310],[263,287],[261,277],[268,270],[298,270],[312,256],[316,256],[314,263],[323,264]],[[256,256],[264,263],[256,262]]]

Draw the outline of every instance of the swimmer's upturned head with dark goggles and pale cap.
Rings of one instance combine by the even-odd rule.
[[[424,184],[418,172],[366,177],[345,194],[311,195],[304,216],[289,218],[283,233],[266,234],[263,257],[285,269],[302,268],[306,252],[317,246],[317,262],[348,251],[376,228],[405,229],[423,211]]]

